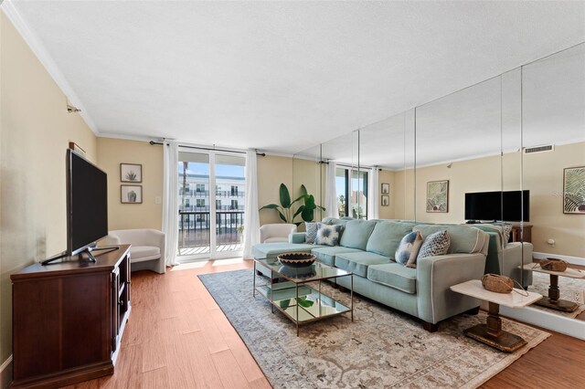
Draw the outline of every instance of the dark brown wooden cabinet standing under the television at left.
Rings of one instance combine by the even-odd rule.
[[[130,245],[97,262],[65,258],[13,274],[12,387],[60,387],[113,373],[130,314]]]

